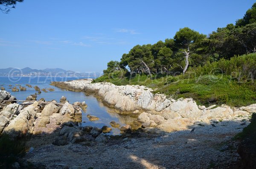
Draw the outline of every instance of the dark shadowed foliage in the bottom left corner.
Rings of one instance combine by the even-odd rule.
[[[0,168],[10,168],[25,152],[24,143],[11,140],[9,135],[0,136]]]

